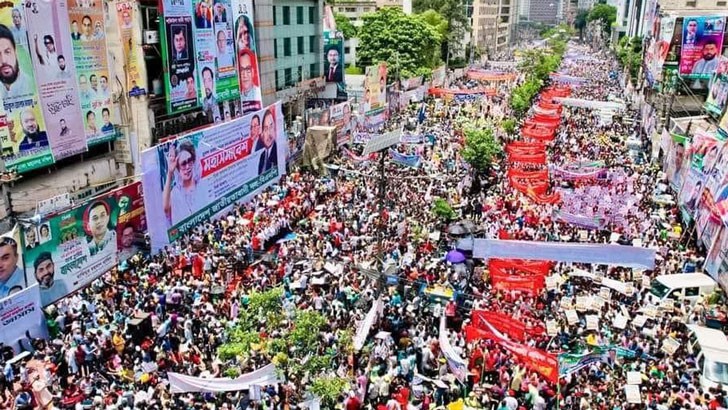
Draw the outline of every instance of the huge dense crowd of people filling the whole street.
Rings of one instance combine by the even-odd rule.
[[[561,72],[586,80],[572,87],[572,96],[605,101],[622,94],[616,77],[603,69],[613,66],[612,56],[575,45],[570,49],[582,57],[567,58]],[[505,176],[505,161],[486,175],[474,175],[463,160],[463,124],[497,126],[509,115],[507,87],[495,98],[413,104],[393,118],[418,118],[412,132],[423,138],[397,150],[418,156],[421,166],[387,161],[382,186],[376,162],[336,157],[330,160],[335,171],[328,176],[292,172],[159,255],[136,255],[48,309],[49,340],[28,335],[24,343],[32,360],[12,364],[12,354],[4,358],[0,408],[728,407],[720,385],[701,387],[691,372],[695,358],[685,348],[685,325],[702,321],[700,309],[719,296],[697,307],[676,302],[639,326],[634,321],[615,325],[617,317],[644,312],[648,290],[642,284],[649,281],[638,282],[638,277],[680,273],[687,264],[700,270],[701,263],[701,250],[692,242],[668,235],[679,229],[679,212],[653,201],[665,189],[658,188],[664,178],[659,169],[639,165],[628,155],[624,140],[642,138],[641,130],[620,121],[605,124],[586,109],[564,108],[557,137],[548,146],[550,163],[567,167],[602,161],[610,168],[606,177],[588,180],[552,174],[552,189],[560,190],[568,205],[562,209],[562,204],[536,204],[514,190]],[[520,138],[497,134],[508,141]],[[600,207],[601,198],[594,195],[612,195],[615,202],[619,198],[619,206]],[[590,197],[596,202],[589,202]],[[551,266],[556,284],[536,293],[496,288],[482,261],[446,260],[457,238],[448,234],[447,220],[432,211],[436,198],[488,238],[607,243],[617,234],[619,243],[639,241],[658,249],[656,267],[638,272],[559,263]],[[620,207],[628,209],[615,215]],[[591,216],[602,217],[598,229],[558,217],[587,208],[593,208]],[[611,291],[600,302],[578,306],[581,315],[572,320],[564,306],[603,294],[597,277],[634,282],[634,291]],[[256,389],[173,392],[170,372],[212,379],[281,363],[260,343],[237,357],[220,354],[221,347],[238,340],[236,326],[251,295],[270,289],[281,289],[278,303],[285,320],[272,326],[265,312],[249,312],[256,340],[291,335],[295,316],[302,312],[323,315],[326,324],[311,337],[320,346],[316,353],[331,359],[329,368],[311,374],[289,365],[277,384]],[[378,303],[381,311],[367,329],[368,312]],[[499,312],[540,329],[519,341],[530,348],[554,355],[602,353],[578,369],[562,369],[554,383],[497,340],[469,338],[465,329],[473,324],[473,311]],[[596,328],[588,326],[587,313],[598,316]],[[144,321],[150,324],[147,331],[138,325]],[[547,323],[555,331],[547,332]],[[364,347],[352,348],[346,335],[362,328],[368,330]],[[441,331],[448,346],[442,344]],[[666,349],[668,339],[679,347]],[[296,348],[284,350],[302,363],[312,360],[298,357]],[[458,374],[448,351],[464,359],[466,374]],[[642,379],[641,404],[629,403],[624,390],[628,372],[635,371]],[[317,379],[333,377],[348,381],[333,401],[311,396]]]

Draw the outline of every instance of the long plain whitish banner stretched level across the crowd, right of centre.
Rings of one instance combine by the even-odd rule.
[[[476,239],[473,257],[593,263],[643,269],[655,267],[654,249],[613,244]]]

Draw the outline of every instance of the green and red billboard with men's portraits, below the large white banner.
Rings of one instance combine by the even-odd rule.
[[[129,238],[144,232],[142,202],[137,182],[26,228],[26,277],[38,283],[43,306],[88,285],[116,266],[120,251],[136,247]]]

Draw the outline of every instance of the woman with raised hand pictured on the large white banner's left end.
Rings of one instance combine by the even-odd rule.
[[[197,149],[192,141],[170,143],[165,160],[166,166],[163,168],[167,172],[162,190],[162,206],[168,225],[171,226],[200,209],[204,198],[198,195],[200,169]]]

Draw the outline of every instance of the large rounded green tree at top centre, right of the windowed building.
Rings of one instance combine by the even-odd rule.
[[[384,7],[364,16],[359,30],[357,59],[362,66],[386,61],[389,72],[402,78],[422,75],[435,67],[442,38],[419,15],[408,16],[395,7]]]

